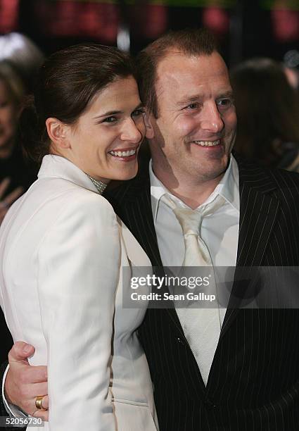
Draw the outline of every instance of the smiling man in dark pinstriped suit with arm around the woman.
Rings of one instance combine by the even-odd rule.
[[[149,174],[113,190],[110,201],[153,266],[186,260],[177,208],[204,214],[218,196],[222,204],[203,216],[198,235],[215,267],[298,266],[299,177],[231,156],[236,113],[227,68],[212,37],[205,31],[171,32],[141,53],[139,66],[141,99],[151,113],[152,161]],[[198,337],[203,320],[196,321],[196,314],[190,331],[178,310],[148,309],[139,335],[160,430],[298,430],[298,311],[224,313],[219,312],[219,329],[207,324],[203,332],[217,339],[213,351]],[[44,368],[13,361],[15,354],[6,396],[33,413],[36,396],[46,394],[45,383],[37,383],[45,380]],[[46,407],[46,397],[43,403]]]

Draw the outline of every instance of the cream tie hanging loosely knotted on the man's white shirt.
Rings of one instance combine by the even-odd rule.
[[[201,238],[203,217],[215,213],[224,204],[222,196],[203,206],[201,210],[182,208],[167,194],[161,198],[169,206],[182,226],[185,243],[185,255],[182,266],[212,266],[208,246]],[[213,270],[212,270],[213,272]],[[207,292],[209,293],[209,292]],[[214,293],[214,292],[211,292]],[[177,316],[184,330],[184,335],[196,358],[203,382],[207,385],[212,360],[220,336],[220,313],[218,308],[177,308]]]

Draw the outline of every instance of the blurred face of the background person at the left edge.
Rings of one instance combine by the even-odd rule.
[[[16,125],[15,104],[4,81],[0,80],[0,153],[13,144]]]

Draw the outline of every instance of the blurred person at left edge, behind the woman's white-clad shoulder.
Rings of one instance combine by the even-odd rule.
[[[25,87],[8,61],[0,62],[0,223],[9,206],[34,182],[32,164],[26,163],[16,130]]]

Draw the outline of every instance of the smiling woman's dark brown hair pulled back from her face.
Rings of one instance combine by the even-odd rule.
[[[79,44],[52,54],[39,69],[34,94],[20,115],[25,155],[40,163],[49,154],[47,118],[75,124],[99,91],[131,75],[136,79],[132,59],[112,46]]]

